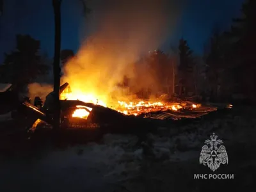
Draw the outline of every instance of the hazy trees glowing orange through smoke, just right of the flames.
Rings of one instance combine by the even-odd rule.
[[[174,62],[173,57],[159,49],[141,56],[134,63],[134,76],[129,81],[131,92],[143,99],[161,92],[172,95]]]

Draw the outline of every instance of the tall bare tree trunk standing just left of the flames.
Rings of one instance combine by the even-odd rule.
[[[56,106],[54,112],[54,130],[60,129],[60,49],[61,49],[61,0],[52,0],[55,20],[55,42],[54,42],[54,97],[56,97]]]

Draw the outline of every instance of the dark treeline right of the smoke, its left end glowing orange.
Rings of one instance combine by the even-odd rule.
[[[241,18],[233,19],[228,31],[213,29],[204,56],[195,55],[184,38],[172,54],[150,52],[140,61],[147,63],[146,73],[154,79],[147,79],[150,92],[179,97],[201,95],[213,102],[255,102],[255,10],[256,1],[248,0],[242,6]]]

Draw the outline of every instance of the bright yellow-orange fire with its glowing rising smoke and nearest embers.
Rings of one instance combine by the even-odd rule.
[[[140,6],[141,1],[136,1],[139,6],[130,7],[123,6],[122,2],[125,1],[116,2],[120,2],[120,6],[113,12],[104,13],[107,17],[97,18],[96,21],[100,19],[99,26],[97,24],[99,31],[90,34],[76,56],[70,58],[63,66],[64,74],[61,80],[70,84],[72,94],[61,93],[60,99],[81,100],[108,106],[126,115],[140,115],[165,109],[179,110],[180,107],[176,104],[158,101],[127,102],[134,101],[127,98],[130,93],[134,94],[141,88],[152,86],[156,89],[159,84],[158,77],[150,72],[146,61],[140,63],[143,65],[137,64],[141,53],[159,47],[165,32],[168,32],[165,22],[169,20],[166,20],[166,14],[163,13],[166,10],[162,6],[163,3],[158,1],[147,3],[150,8],[154,8],[152,14],[148,14],[147,8]],[[127,14],[127,8],[132,12],[135,8],[136,14]],[[94,22],[92,23],[94,25]],[[156,68],[158,74],[158,67]],[[120,88],[118,84],[122,84],[124,76],[132,79],[128,84],[134,91],[130,92],[126,86]],[[122,104],[118,100],[123,101]]]

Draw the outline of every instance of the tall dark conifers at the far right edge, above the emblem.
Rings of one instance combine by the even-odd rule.
[[[238,97],[255,101],[256,1],[243,4],[240,19],[233,19],[230,30],[214,30],[205,50],[207,84],[214,100]],[[245,98],[246,97],[246,98]]]

